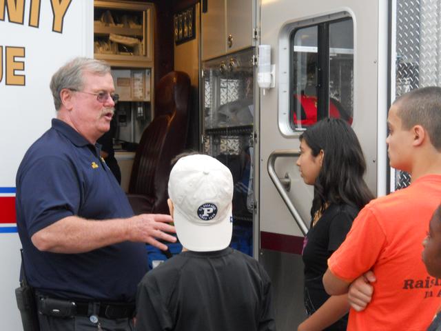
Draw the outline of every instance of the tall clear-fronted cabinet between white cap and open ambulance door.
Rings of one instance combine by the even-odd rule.
[[[254,48],[203,62],[203,152],[231,170],[232,247],[252,255]]]

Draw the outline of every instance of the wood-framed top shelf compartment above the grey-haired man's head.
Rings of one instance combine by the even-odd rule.
[[[94,57],[111,66],[153,65],[152,3],[94,1]]]

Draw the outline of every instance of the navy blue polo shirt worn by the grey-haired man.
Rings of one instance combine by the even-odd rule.
[[[66,299],[134,301],[147,272],[143,243],[125,241],[81,254],[41,252],[30,238],[68,216],[133,216],[100,146],[59,119],[26,152],[17,172],[17,228],[30,285]],[[17,253],[18,254],[18,253]]]

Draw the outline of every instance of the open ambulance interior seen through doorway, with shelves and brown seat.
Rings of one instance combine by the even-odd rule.
[[[165,212],[167,194],[162,191],[166,185],[158,183],[168,181],[171,167],[164,170],[165,165],[161,163],[161,169],[154,170],[158,168],[154,165],[160,164],[158,159],[162,160],[165,154],[170,159],[184,151],[201,151],[212,155],[229,167],[234,178],[232,247],[252,255],[253,58],[256,48],[254,39],[249,38],[243,46],[238,46],[237,52],[225,50],[214,55],[203,54],[201,14],[215,12],[215,7],[220,3],[223,1],[96,0],[94,57],[112,66],[115,92],[119,94],[112,120],[112,139],[115,157],[121,168],[121,186],[129,194],[134,209],[148,211],[155,205],[158,208],[154,211]],[[253,11],[243,9],[251,19]],[[248,25],[247,30],[251,31],[251,20]],[[207,26],[205,31],[209,29]],[[245,30],[242,30],[245,34]],[[237,42],[236,38],[232,39],[232,45]],[[207,61],[202,61],[203,57]],[[164,154],[145,148],[144,138],[143,146],[139,143],[143,132],[153,131],[152,124],[158,115],[155,108],[159,100],[156,98],[165,95],[158,90],[161,88],[159,82],[172,71],[183,72],[191,82],[187,103],[188,128],[178,142],[151,144],[167,151]],[[176,99],[176,93],[172,97]],[[171,123],[173,119],[170,116],[165,121]],[[157,134],[150,139],[158,139]],[[169,153],[170,150],[173,150],[173,155]],[[141,153],[143,157],[139,155]],[[141,158],[147,161],[139,163]],[[134,174],[144,177],[148,188],[141,189],[139,183],[134,185]],[[148,194],[141,194],[143,197],[140,197],[139,192]],[[179,247],[170,245],[170,250],[175,253]],[[163,259],[163,252],[152,248],[150,265]]]

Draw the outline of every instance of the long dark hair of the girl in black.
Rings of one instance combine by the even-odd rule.
[[[363,208],[373,194],[363,180],[366,161],[360,142],[348,123],[342,119],[323,119],[300,135],[314,157],[325,152],[322,168],[314,183],[311,217],[323,212],[327,203],[347,203]]]

